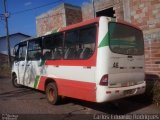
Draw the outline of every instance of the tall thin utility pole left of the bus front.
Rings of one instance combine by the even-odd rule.
[[[9,13],[6,9],[6,0],[3,0],[4,5],[4,20],[5,20],[5,29],[6,29],[6,41],[7,41],[7,49],[8,49],[8,66],[11,68],[11,53],[10,53],[10,41],[9,41],[9,31],[8,31],[8,17]]]

